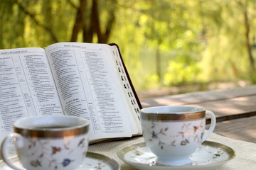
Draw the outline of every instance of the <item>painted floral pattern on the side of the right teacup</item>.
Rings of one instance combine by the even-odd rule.
[[[156,122],[151,122],[150,128],[144,127],[147,132],[150,132],[151,138],[149,138],[150,142],[154,140],[158,140],[158,145],[161,149],[164,149],[164,146],[176,147],[186,146],[189,143],[196,142],[201,143],[203,140],[203,120],[198,125],[194,125],[193,123],[183,123],[180,130],[171,130],[168,126],[160,129],[156,129]],[[169,132],[170,131],[170,132]],[[174,131],[174,132],[173,132]],[[171,135],[170,135],[171,134]],[[164,142],[160,136],[170,137],[171,142]]]

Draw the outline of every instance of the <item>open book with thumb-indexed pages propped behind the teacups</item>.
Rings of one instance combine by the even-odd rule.
[[[142,134],[142,106],[115,44],[0,50],[0,103],[0,142],[14,120],[35,115],[86,118],[91,143]]]

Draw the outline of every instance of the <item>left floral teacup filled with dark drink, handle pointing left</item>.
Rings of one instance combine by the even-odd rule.
[[[4,162],[16,170],[5,152],[14,137],[16,152],[27,170],[75,170],[82,164],[89,143],[89,122],[84,118],[50,115],[21,118],[14,122],[14,133],[1,144]]]

